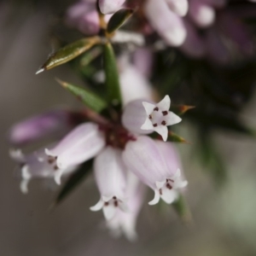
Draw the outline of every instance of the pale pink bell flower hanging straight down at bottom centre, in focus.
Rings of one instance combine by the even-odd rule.
[[[125,199],[125,165],[119,149],[107,147],[96,156],[94,161],[96,184],[101,199],[91,211],[103,210],[105,218],[111,219],[118,209],[127,212]]]

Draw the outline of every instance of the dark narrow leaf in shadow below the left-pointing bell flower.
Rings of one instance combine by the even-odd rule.
[[[79,170],[74,172],[67,180],[67,183],[64,184],[63,188],[61,189],[60,194],[55,199],[54,205],[59,204],[63,201],[67,195],[73,191],[73,189],[77,188],[79,183],[84,181],[84,178],[90,173],[92,168],[93,160],[86,161],[82,166],[79,167]]]

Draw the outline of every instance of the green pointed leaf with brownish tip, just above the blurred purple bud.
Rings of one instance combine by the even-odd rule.
[[[65,89],[72,92],[74,96],[77,96],[84,105],[96,111],[96,113],[100,113],[104,108],[107,108],[108,103],[100,96],[97,96],[94,92],[73,84],[68,84],[60,79],[56,79],[56,81]]]

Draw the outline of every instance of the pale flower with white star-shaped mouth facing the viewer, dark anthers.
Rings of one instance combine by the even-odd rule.
[[[169,111],[171,99],[165,96],[157,103],[137,100],[130,102],[125,107],[122,122],[126,129],[137,134],[148,134],[156,131],[164,141],[168,136],[168,125],[175,125],[182,119],[177,114]]]

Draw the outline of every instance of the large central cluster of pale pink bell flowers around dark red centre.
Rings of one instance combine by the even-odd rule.
[[[160,198],[171,204],[179,190],[187,185],[172,143],[145,136],[156,131],[166,141],[166,126],[181,121],[169,111],[170,104],[169,96],[157,104],[134,100],[125,106],[120,123],[86,122],[75,127],[53,148],[28,155],[20,150],[11,151],[21,166],[20,189],[26,193],[32,177],[54,177],[60,184],[62,174],[74,172],[84,161],[95,158],[93,169],[101,198],[90,210],[102,209],[114,234],[123,231],[129,239],[134,239],[145,191],[143,183],[154,189],[154,200],[149,205],[156,204]],[[11,140],[16,144],[31,142],[46,133],[60,131],[67,124],[63,111],[46,113],[15,125]]]

